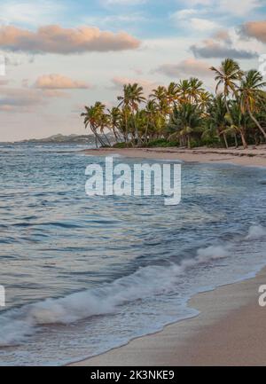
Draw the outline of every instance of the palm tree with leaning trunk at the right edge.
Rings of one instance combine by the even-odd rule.
[[[265,86],[266,82],[263,82],[262,74],[252,69],[245,74],[239,88],[241,110],[249,114],[264,138],[266,138],[266,132],[255,118],[255,114],[259,112],[259,106],[266,102],[266,92],[262,90]]]

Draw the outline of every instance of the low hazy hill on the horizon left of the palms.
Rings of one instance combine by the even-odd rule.
[[[113,142],[113,136],[110,133],[107,133],[106,136]],[[13,145],[21,145],[21,144],[88,144],[94,145],[95,138],[93,135],[53,135],[51,137],[44,138],[30,138],[27,140],[15,141],[12,143],[2,143],[2,144],[13,144]]]

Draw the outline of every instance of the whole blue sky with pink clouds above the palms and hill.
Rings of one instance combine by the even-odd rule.
[[[214,91],[209,67],[263,54],[265,0],[1,0],[0,142],[82,135],[83,107],[115,106],[128,82]]]

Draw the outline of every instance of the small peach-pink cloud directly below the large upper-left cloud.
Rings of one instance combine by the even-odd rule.
[[[79,82],[61,74],[43,74],[35,82],[35,88],[42,90],[85,90],[90,88],[88,82]]]

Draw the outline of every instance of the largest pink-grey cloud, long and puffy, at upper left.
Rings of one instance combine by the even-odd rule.
[[[0,48],[5,51],[71,54],[88,51],[134,50],[140,42],[126,32],[101,31],[98,27],[64,28],[58,25],[29,31],[0,27]]]

